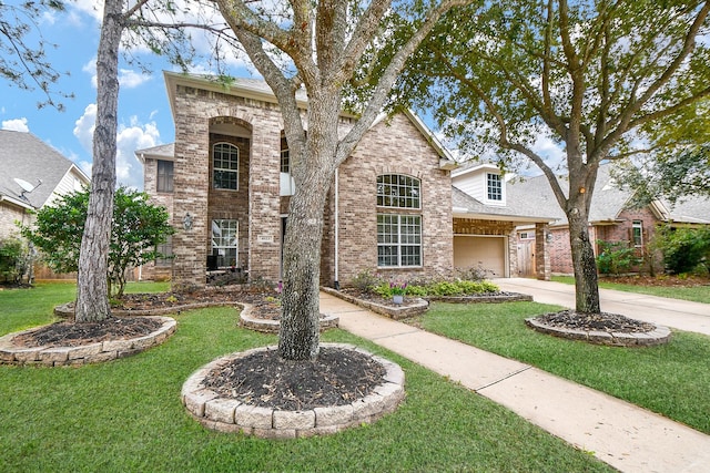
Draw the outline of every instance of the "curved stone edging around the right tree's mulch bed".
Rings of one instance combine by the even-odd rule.
[[[534,317],[525,319],[525,323],[541,333],[612,347],[653,347],[668,343],[671,338],[670,329],[665,326],[656,326],[656,329],[649,332],[625,333],[552,327],[536,320]]]

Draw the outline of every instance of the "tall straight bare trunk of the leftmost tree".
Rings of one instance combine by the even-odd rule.
[[[97,124],[93,133],[91,195],[79,256],[75,310],[78,322],[100,321],[111,316],[106,276],[115,193],[122,4],[120,0],[104,2],[97,54]]]

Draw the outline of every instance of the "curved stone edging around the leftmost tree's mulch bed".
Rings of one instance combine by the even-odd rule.
[[[162,320],[163,325],[144,337],[106,340],[80,347],[20,348],[12,343],[14,337],[38,330],[41,327],[8,333],[0,337],[0,364],[82,366],[130,357],[162,343],[175,332],[178,327],[175,319],[170,317],[154,318]]]

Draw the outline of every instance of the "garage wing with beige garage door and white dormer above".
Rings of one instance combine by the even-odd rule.
[[[498,166],[473,163],[452,173],[454,265],[480,267],[489,277],[536,276],[549,279],[546,239],[538,246],[518,244],[516,228],[529,225],[545,235],[555,218],[546,209],[527,208],[508,197],[508,183]],[[541,257],[536,257],[541,255]]]

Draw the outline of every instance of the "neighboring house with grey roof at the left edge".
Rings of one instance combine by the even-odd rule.
[[[71,161],[31,133],[0,130],[0,238],[18,236],[31,210],[79,191],[90,179]]]

